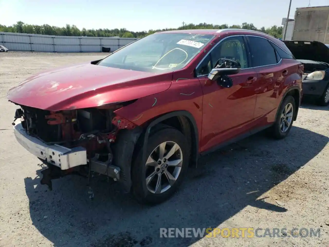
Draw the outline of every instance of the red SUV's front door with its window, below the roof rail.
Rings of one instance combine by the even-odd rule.
[[[208,79],[208,73],[221,58],[238,61],[239,73],[228,75],[233,86],[224,88]],[[220,40],[196,68],[203,88],[201,151],[249,134],[254,126],[257,72],[250,68],[250,57],[244,36],[229,36]]]

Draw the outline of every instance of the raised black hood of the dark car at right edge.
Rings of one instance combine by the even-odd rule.
[[[296,59],[329,63],[329,47],[318,41],[283,41]]]

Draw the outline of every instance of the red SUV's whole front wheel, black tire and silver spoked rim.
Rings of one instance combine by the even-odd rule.
[[[187,140],[177,129],[161,129],[148,139],[145,164],[142,155],[140,148],[132,167],[133,195],[142,204],[164,202],[185,177],[190,156]]]

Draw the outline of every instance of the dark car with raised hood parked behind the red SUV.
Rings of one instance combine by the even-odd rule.
[[[303,96],[317,104],[329,104],[329,44],[319,41],[284,41],[294,57],[304,65]]]

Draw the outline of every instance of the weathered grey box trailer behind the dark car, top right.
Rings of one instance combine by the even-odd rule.
[[[292,40],[329,44],[329,6],[297,8]]]

